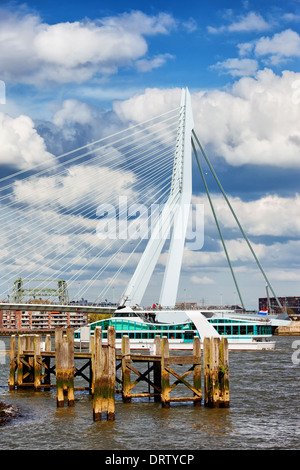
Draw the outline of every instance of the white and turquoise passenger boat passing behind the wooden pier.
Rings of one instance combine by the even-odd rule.
[[[108,326],[113,326],[117,349],[121,348],[123,335],[129,336],[133,350],[151,351],[156,335],[166,336],[170,350],[177,351],[191,350],[194,336],[199,336],[201,342],[205,337],[226,337],[230,350],[274,349],[274,327],[285,324],[285,320],[279,319],[277,323],[275,320],[226,310],[145,310],[124,306],[119,307],[111,318],[83,327],[88,329],[85,338],[83,328],[76,330],[75,345],[88,346],[90,335],[97,327],[102,328],[105,343]]]

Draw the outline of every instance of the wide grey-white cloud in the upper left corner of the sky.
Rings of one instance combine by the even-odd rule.
[[[2,14],[3,13],[3,14]],[[133,67],[148,52],[147,35],[168,34],[176,22],[166,13],[124,13],[95,21],[47,24],[34,14],[1,10],[0,61],[3,79],[41,84],[82,83]],[[164,60],[148,61],[148,69]],[[142,70],[142,69],[140,69]]]

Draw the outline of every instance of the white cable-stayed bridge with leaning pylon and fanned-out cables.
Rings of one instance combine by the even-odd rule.
[[[141,304],[166,242],[159,303],[174,306],[192,195],[193,154],[244,305],[198,152],[236,218],[195,134],[188,90],[182,91],[175,109],[0,179],[0,308],[25,308],[25,299],[12,303],[10,295],[16,279],[28,278],[40,279],[40,292],[51,280],[65,280],[69,302],[84,296],[92,301],[85,311],[103,311],[97,305],[116,282],[124,285],[121,304]],[[63,307],[53,297],[49,308],[58,307],[81,309]]]

